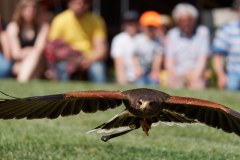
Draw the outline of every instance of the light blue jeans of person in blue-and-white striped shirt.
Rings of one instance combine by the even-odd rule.
[[[226,89],[230,91],[240,90],[240,73],[227,73]]]

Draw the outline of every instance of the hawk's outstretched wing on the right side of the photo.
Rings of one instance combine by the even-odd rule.
[[[240,113],[228,107],[206,100],[177,96],[170,97],[165,103],[164,108],[167,110],[240,136]]]

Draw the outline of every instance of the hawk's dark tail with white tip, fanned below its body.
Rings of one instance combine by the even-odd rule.
[[[117,114],[112,119],[107,121],[106,123],[101,124],[100,126],[94,128],[93,130],[88,131],[88,133],[91,132],[97,132],[97,133],[112,133],[112,132],[118,132],[115,134],[111,134],[108,136],[103,136],[102,140],[107,141],[111,138],[121,136],[123,134],[126,134],[132,130],[140,128],[140,122],[139,119],[135,116],[133,116],[131,113],[129,113],[127,110],[124,110],[123,112]]]

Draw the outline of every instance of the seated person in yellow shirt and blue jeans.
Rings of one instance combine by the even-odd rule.
[[[69,0],[68,9],[51,24],[47,59],[53,68],[50,73],[58,80],[86,71],[89,80],[106,82],[105,23],[91,13],[91,5],[91,0]]]

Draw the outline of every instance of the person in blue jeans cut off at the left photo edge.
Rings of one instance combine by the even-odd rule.
[[[0,16],[0,78],[11,76],[11,55],[5,24]]]

